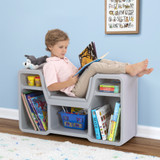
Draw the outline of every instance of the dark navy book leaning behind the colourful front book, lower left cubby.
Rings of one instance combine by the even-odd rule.
[[[35,116],[35,120],[36,120],[36,123],[38,125],[38,128],[40,129],[40,131],[44,131],[45,129],[44,129],[43,125],[42,125],[42,122],[39,119],[38,114],[37,114],[37,112],[36,112],[36,110],[35,110],[35,108],[33,106],[32,101],[31,101],[31,98],[33,98],[35,96],[38,96],[38,95],[41,95],[41,94],[43,94],[43,93],[39,92],[39,91],[36,91],[36,92],[25,94],[25,96],[26,96],[27,102],[28,102],[28,104],[30,106],[30,109],[32,110],[32,112],[33,112],[33,114]]]

